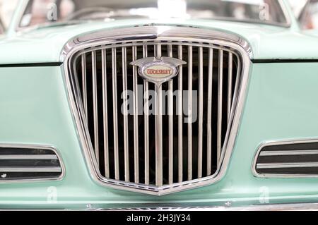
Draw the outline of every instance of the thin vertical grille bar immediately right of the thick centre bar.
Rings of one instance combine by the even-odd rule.
[[[168,56],[172,57],[172,45],[168,45]],[[169,184],[173,183],[173,80],[168,83],[168,115],[169,115]]]

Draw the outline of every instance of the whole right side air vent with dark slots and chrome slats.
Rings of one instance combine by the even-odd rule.
[[[256,176],[318,176],[318,142],[273,142],[263,145],[253,164]]]

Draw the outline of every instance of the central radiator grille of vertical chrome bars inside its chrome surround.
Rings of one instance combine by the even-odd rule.
[[[171,91],[166,101],[156,97],[152,105],[148,91],[155,85],[129,64],[147,56],[187,62],[160,87]],[[102,176],[160,187],[216,173],[240,80],[236,51],[213,43],[148,39],[89,47],[72,63]],[[132,114],[127,114],[125,90],[133,92]],[[177,101],[175,90],[188,92],[178,92],[182,100]],[[158,106],[166,113],[149,113],[158,112]]]

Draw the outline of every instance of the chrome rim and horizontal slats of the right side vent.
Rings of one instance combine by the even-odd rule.
[[[276,173],[259,173],[258,169],[306,169],[306,168],[316,168],[318,167],[318,162],[311,162],[310,160],[306,162],[279,162],[279,163],[258,163],[260,157],[310,157],[318,155],[318,150],[308,149],[308,150],[264,150],[264,147],[275,147],[283,145],[300,145],[300,144],[313,144],[318,143],[317,138],[310,139],[294,139],[294,140],[279,140],[279,141],[269,141],[263,142],[259,145],[257,152],[254,156],[254,161],[252,163],[252,173],[255,177],[259,178],[318,178],[317,173],[313,174],[299,174],[296,172],[290,172],[290,174]],[[286,161],[286,159],[285,159]]]

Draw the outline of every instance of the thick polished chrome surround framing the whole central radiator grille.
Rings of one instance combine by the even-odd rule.
[[[131,37],[131,31],[134,30],[134,33],[136,33],[136,37]],[[120,35],[118,35],[120,34]],[[191,88],[191,80],[192,80],[192,61],[193,59],[193,48],[201,48],[204,45],[210,45],[212,49],[218,49],[220,52],[224,53],[231,52],[233,55],[237,56],[238,59],[240,59],[239,62],[239,68],[240,71],[242,69],[242,72],[240,73],[240,80],[237,79],[237,84],[235,85],[235,94],[232,97],[232,109],[230,111],[230,119],[228,123],[228,129],[227,129],[227,135],[225,136],[225,141],[223,145],[223,150],[219,149],[219,163],[218,167],[216,169],[216,173],[211,176],[205,176],[203,178],[200,178],[200,175],[202,173],[201,171],[201,164],[198,164],[198,178],[195,178],[192,180],[192,163],[188,164],[187,174],[188,174],[188,181],[184,181],[182,183],[169,183],[167,185],[163,186],[163,146],[162,146],[162,116],[161,114],[157,114],[156,117],[156,181],[155,186],[149,186],[148,185],[148,179],[145,179],[145,183],[129,183],[126,181],[119,181],[119,165],[118,165],[118,138],[117,135],[114,135],[114,159],[115,159],[115,179],[109,179],[105,178],[100,174],[100,171],[98,169],[98,161],[95,158],[94,147],[92,143],[89,140],[88,135],[88,128],[86,123],[86,118],[83,116],[83,103],[81,102],[81,93],[76,90],[76,80],[73,79],[71,70],[73,69],[73,56],[78,54],[79,51],[81,51],[81,54],[86,53],[88,51],[91,51],[89,48],[93,47],[94,51],[100,49],[105,49],[105,44],[111,44],[111,43],[119,43],[117,44],[117,47],[127,47],[131,44],[129,42],[136,42],[140,46],[144,46],[143,42],[152,42],[157,47],[155,49],[155,56],[159,57],[161,56],[161,47],[160,43],[161,41],[174,41],[174,42],[188,42],[192,43],[188,47],[188,54],[189,54],[189,89]],[[233,41],[234,40],[234,41]],[[127,44],[125,44],[127,42]],[[179,43],[179,44],[180,44]],[[134,46],[137,46],[138,44],[134,44]],[[177,43],[178,44],[178,43]],[[146,47],[143,47],[143,49]],[[87,49],[86,51],[83,51],[83,49]],[[182,58],[182,51],[179,52],[179,58]],[[206,186],[211,183],[214,183],[216,181],[219,181],[220,178],[225,174],[227,164],[230,159],[230,155],[232,152],[232,147],[235,143],[236,133],[240,122],[240,116],[242,107],[245,101],[245,90],[247,87],[247,80],[248,80],[248,69],[249,69],[249,54],[252,54],[250,52],[250,49],[246,42],[244,42],[242,39],[237,38],[232,35],[228,35],[221,32],[215,32],[212,30],[201,30],[197,28],[174,28],[174,27],[160,27],[160,26],[150,26],[150,27],[141,27],[141,28],[124,28],[121,30],[116,30],[114,32],[100,32],[95,33],[92,35],[86,35],[85,37],[78,37],[77,39],[73,40],[69,44],[66,44],[66,47],[63,51],[63,59],[65,57],[65,63],[64,68],[66,71],[66,84],[68,85],[68,92],[70,97],[70,104],[73,110],[73,116],[76,121],[76,125],[78,128],[78,133],[81,138],[81,143],[83,146],[84,154],[86,155],[86,159],[90,168],[90,171],[93,175],[93,178],[95,178],[95,181],[98,181],[101,185],[110,186],[112,188],[119,188],[122,190],[133,190],[141,193],[148,193],[153,195],[164,195],[167,193],[174,193],[180,190],[187,190],[190,188],[197,188],[199,186]],[[145,51],[143,51],[143,55],[145,55]],[[201,55],[201,54],[200,54]],[[199,57],[201,58],[201,57]],[[117,96],[117,74],[116,74],[116,66],[117,63],[115,63],[117,57],[116,57],[116,51],[114,48],[112,48],[112,92],[114,93],[113,96]],[[209,59],[213,60],[213,59]],[[242,63],[243,62],[243,63]],[[192,68],[192,69],[191,69]],[[201,68],[201,66],[199,66]],[[182,69],[182,68],[180,68]],[[211,73],[211,71],[210,71]],[[136,74],[136,72],[135,72]],[[201,74],[201,73],[200,73]],[[200,81],[201,83],[201,81]],[[136,83],[135,83],[136,84]],[[179,85],[180,86],[180,83]],[[147,88],[144,86],[144,88]],[[159,87],[160,88],[160,87]],[[212,90],[211,90],[212,92]],[[220,96],[220,95],[219,95]],[[191,98],[192,96],[190,96]],[[160,112],[162,110],[162,106],[158,104],[158,102],[161,102],[160,99],[162,97],[159,95],[157,97],[157,104],[159,107],[156,107],[156,110]],[[199,97],[201,99],[201,97]],[[190,102],[190,101],[189,101]],[[199,100],[200,102],[200,100]],[[117,104],[117,99],[114,97],[113,104]],[[201,103],[200,103],[201,104]],[[179,106],[180,107],[180,106]],[[118,112],[117,107],[114,107],[113,114],[114,116],[117,116]],[[191,118],[191,114],[189,115]],[[200,117],[200,116],[199,116]],[[226,117],[226,116],[225,116]],[[145,117],[147,118],[147,116]],[[199,119],[200,120],[200,119]],[[118,118],[114,119],[114,133],[118,134]],[[190,123],[191,124],[191,123]],[[147,123],[145,123],[145,127],[147,127]],[[135,128],[134,128],[135,129]],[[171,132],[171,130],[170,130]],[[189,137],[192,137],[192,126],[188,126],[188,135]],[[178,131],[180,133],[180,130]],[[146,135],[147,137],[147,135]],[[180,137],[180,136],[179,136]],[[178,141],[181,142],[181,137],[178,138]],[[207,140],[208,141],[208,140]],[[210,142],[210,141],[208,141]],[[192,138],[188,138],[188,150],[192,149]],[[145,146],[148,145],[147,138],[145,138]],[[199,142],[199,145],[201,146],[201,142]],[[199,152],[198,152],[198,159],[199,162],[202,162],[203,159],[201,159],[201,147],[199,146]],[[146,149],[148,149],[146,147]],[[137,149],[138,150],[138,149]],[[182,151],[180,148],[178,149],[178,155],[182,155]],[[193,153],[192,151],[189,151],[189,153]],[[117,156],[116,156],[117,154]],[[192,162],[191,154],[188,154],[187,157],[189,159],[189,162]],[[136,152],[135,152],[136,155]],[[144,155],[145,158],[148,157],[148,152],[146,151],[146,154]],[[145,161],[148,163],[148,160]],[[145,167],[146,168],[146,167]],[[182,164],[178,163],[177,166],[178,169],[183,169]],[[205,171],[209,171],[210,168],[204,169]],[[135,174],[136,175],[136,174]],[[146,175],[148,176],[148,175]],[[182,176],[180,174],[177,178],[178,181],[182,181]],[[171,181],[171,180],[170,180]]]

